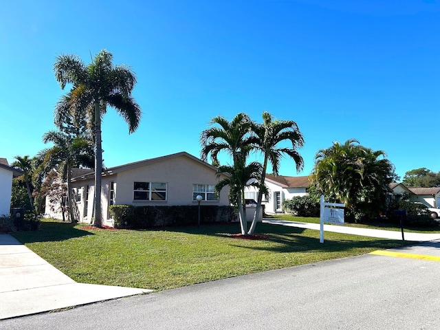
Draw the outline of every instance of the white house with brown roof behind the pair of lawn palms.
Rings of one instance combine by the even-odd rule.
[[[262,204],[265,206],[265,213],[273,214],[283,212],[283,201],[295,196],[307,195],[307,188],[310,186],[308,176],[287,177],[285,175],[267,174],[265,184],[269,188],[269,198],[263,196]],[[249,187],[245,191],[246,199],[258,198],[258,190]]]

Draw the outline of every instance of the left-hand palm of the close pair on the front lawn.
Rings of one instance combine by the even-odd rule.
[[[244,217],[243,200],[244,188],[247,181],[243,182],[245,173],[254,173],[256,168],[246,168],[246,159],[251,150],[250,131],[252,121],[245,113],[237,114],[231,122],[221,116],[210,120],[210,124],[218,124],[201,132],[201,159],[206,161],[208,155],[211,156],[214,164],[219,164],[218,155],[225,151],[232,157],[231,166],[219,166],[218,175],[228,173],[229,179],[223,179],[217,185],[217,191],[223,186],[230,186],[231,203],[239,208],[241,233],[247,234],[247,222]]]

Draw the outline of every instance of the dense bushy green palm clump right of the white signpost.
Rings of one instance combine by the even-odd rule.
[[[355,221],[372,219],[385,208],[388,184],[394,179],[394,166],[384,151],[354,139],[318,151],[311,175],[327,200],[345,203],[347,217]]]

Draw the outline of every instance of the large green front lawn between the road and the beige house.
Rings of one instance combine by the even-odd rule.
[[[41,230],[14,236],[81,283],[170,289],[265,270],[394,248],[386,239],[259,223],[266,240],[233,239],[239,224],[157,230],[94,230],[43,221]]]

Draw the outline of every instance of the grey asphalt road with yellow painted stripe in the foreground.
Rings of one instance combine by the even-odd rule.
[[[440,329],[440,241],[393,252],[3,320],[0,329]]]

